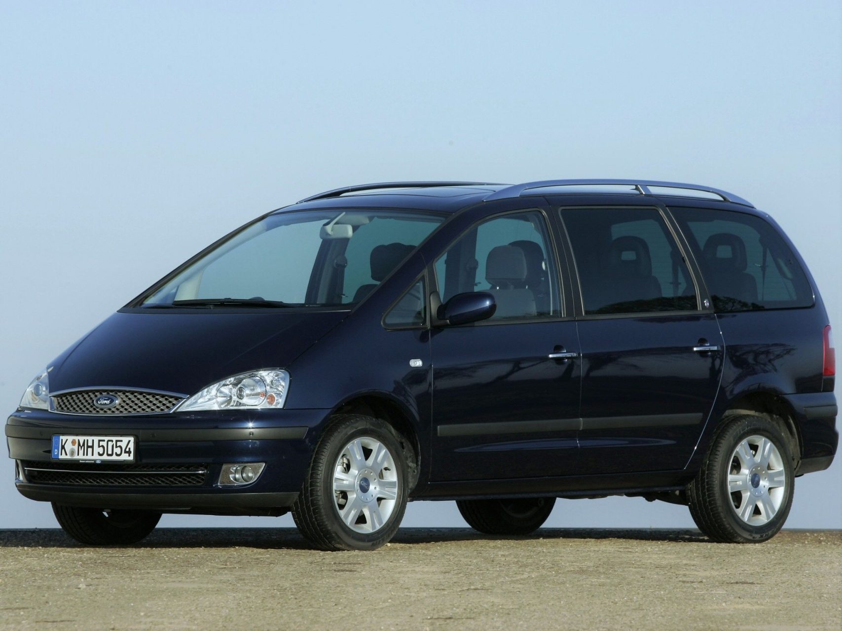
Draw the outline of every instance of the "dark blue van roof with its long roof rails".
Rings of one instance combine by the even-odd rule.
[[[397,208],[453,213],[482,201],[569,196],[577,204],[646,203],[701,205],[765,215],[738,195],[699,184],[655,180],[542,180],[521,184],[477,182],[386,182],[335,188],[278,211],[329,208]],[[278,212],[276,211],[276,212]]]

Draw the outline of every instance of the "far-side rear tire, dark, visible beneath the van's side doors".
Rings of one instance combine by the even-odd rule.
[[[456,501],[468,525],[486,534],[532,533],[550,517],[555,504],[555,497]]]

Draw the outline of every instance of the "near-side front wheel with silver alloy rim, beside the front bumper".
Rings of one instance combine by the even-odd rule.
[[[372,550],[397,533],[407,507],[402,437],[372,416],[333,417],[313,453],[292,517],[322,550]]]

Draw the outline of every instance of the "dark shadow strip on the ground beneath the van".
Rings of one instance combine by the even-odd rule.
[[[530,539],[627,539],[706,543],[695,530],[541,528],[526,536],[499,536],[477,533],[470,528],[401,528],[394,544],[436,544],[465,541],[522,541]],[[0,548],[83,548],[60,528],[0,530]],[[115,546],[125,547],[125,546]],[[255,548],[310,549],[296,528],[159,528],[131,548]]]

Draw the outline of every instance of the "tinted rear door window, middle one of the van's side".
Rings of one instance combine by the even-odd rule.
[[[684,257],[656,209],[565,209],[586,314],[696,310]]]

